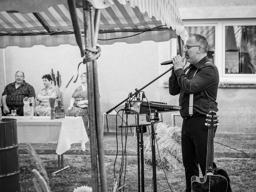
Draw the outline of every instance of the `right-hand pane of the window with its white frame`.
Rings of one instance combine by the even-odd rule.
[[[219,61],[220,81],[256,83],[256,22],[250,19],[224,20],[220,23],[222,40]]]

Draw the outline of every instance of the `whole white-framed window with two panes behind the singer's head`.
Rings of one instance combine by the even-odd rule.
[[[184,26],[207,38],[207,56],[218,67],[221,83],[256,84],[255,19],[186,20]]]

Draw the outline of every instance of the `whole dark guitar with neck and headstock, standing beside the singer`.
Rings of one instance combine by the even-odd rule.
[[[231,192],[230,180],[226,171],[213,168],[213,138],[214,128],[217,128],[218,119],[215,111],[210,111],[206,115],[208,129],[207,156],[206,156],[206,174],[200,178],[191,177],[192,192]]]

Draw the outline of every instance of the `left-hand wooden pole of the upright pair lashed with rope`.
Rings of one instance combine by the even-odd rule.
[[[89,2],[83,0],[84,14],[84,42],[87,46],[92,46],[91,26],[90,26],[90,9]],[[90,126],[90,151],[91,151],[91,168],[92,168],[92,191],[98,192],[98,167],[97,167],[97,142],[96,142],[96,108],[94,102],[94,80],[92,62],[86,63],[87,73],[87,90],[88,90],[88,114]]]

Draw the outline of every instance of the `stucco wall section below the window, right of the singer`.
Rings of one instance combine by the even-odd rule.
[[[255,88],[219,88],[217,101],[222,132],[256,132]]]

